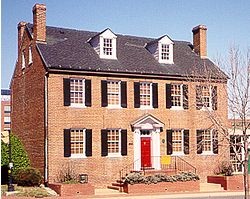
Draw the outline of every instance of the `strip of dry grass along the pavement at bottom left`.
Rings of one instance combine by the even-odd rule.
[[[5,195],[8,190],[7,185],[1,185],[1,195]],[[24,196],[24,197],[48,197],[51,196],[46,189],[42,187],[21,187],[15,186],[15,191],[12,196]]]

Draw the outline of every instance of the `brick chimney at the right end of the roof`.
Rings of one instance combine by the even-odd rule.
[[[198,25],[193,28],[193,45],[194,52],[201,58],[207,57],[207,27]]]

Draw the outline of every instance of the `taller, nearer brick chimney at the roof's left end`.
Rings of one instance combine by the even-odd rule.
[[[35,4],[33,7],[33,39],[46,42],[46,6]]]

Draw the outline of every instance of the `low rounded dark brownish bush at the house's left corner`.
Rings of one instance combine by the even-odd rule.
[[[42,175],[38,169],[22,168],[17,171],[15,180],[20,186],[39,186],[42,182]]]

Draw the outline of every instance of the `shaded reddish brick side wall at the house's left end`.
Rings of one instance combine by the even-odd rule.
[[[21,42],[19,42],[21,43]],[[33,63],[28,65],[28,49],[32,45]],[[26,67],[21,69],[21,52],[25,51]],[[44,173],[44,76],[45,69],[25,30],[18,52],[18,62],[11,82],[12,131],[21,138],[33,167]]]

